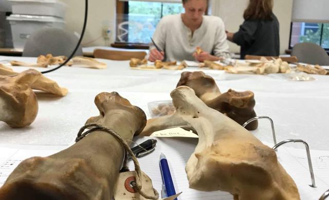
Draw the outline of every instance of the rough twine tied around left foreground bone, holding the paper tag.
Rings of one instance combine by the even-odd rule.
[[[89,128],[89,127],[93,127],[91,129],[89,129],[88,131],[84,132],[83,131],[86,129],[86,128]],[[93,132],[93,131],[96,131],[96,130],[99,130],[99,131],[104,131],[106,133],[109,133],[111,134],[112,136],[114,136],[117,141],[123,146],[124,150],[125,150],[125,156],[124,156],[124,160],[123,160],[123,167],[122,167],[122,170],[121,171],[129,171],[129,167],[127,166],[127,162],[128,162],[128,154],[131,156],[133,162],[134,162],[134,165],[135,165],[135,172],[136,172],[136,182],[135,184],[133,183],[132,186],[133,188],[140,194],[142,195],[143,197],[145,198],[148,198],[148,199],[153,199],[153,200],[157,200],[159,198],[159,193],[156,191],[155,188],[153,188],[153,191],[154,191],[154,196],[151,196],[151,195],[148,195],[148,194],[145,194],[144,192],[142,192],[142,185],[141,185],[141,177],[142,177],[142,172],[141,172],[141,169],[140,169],[140,166],[139,166],[139,163],[137,161],[137,158],[136,156],[134,155],[133,151],[130,149],[129,145],[122,139],[122,137],[116,133],[114,130],[110,129],[110,128],[107,128],[107,127],[104,127],[102,125],[99,125],[99,124],[96,124],[96,123],[92,123],[92,124],[87,124],[87,125],[84,125],[78,132],[78,136],[76,138],[76,143],[79,142],[81,139],[83,139],[85,136],[87,136],[89,133]]]

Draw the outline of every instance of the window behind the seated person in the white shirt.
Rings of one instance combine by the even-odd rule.
[[[117,12],[117,43],[149,44],[163,16],[184,12],[181,3],[129,1]]]

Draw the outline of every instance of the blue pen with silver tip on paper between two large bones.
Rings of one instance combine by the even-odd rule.
[[[175,195],[176,191],[175,191],[173,179],[171,178],[167,158],[163,153],[161,153],[160,155],[159,165],[160,165],[162,183],[165,184],[167,197]],[[175,198],[174,200],[177,200],[177,198]]]

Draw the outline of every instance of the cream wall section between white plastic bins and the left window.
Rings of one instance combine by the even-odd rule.
[[[67,4],[66,29],[72,32],[81,33],[85,2],[83,0],[61,0]],[[115,38],[115,0],[89,0],[88,21],[85,35],[82,41],[83,46],[105,46],[114,42]],[[109,28],[112,31],[109,42],[101,37],[102,29]]]

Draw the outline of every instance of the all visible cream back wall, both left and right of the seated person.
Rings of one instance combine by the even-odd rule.
[[[69,31],[81,33],[84,1],[81,0],[62,0],[68,5],[66,11],[66,27]],[[214,3],[213,11],[216,15],[222,17],[226,29],[235,32],[243,23],[243,11],[247,6],[248,0],[212,0]],[[291,10],[293,0],[274,0],[275,6],[273,12],[277,15],[280,22],[280,52],[288,48]],[[104,46],[108,45],[102,37],[102,29],[108,26],[112,31],[109,43],[114,42],[115,38],[115,0],[89,0],[88,23],[83,39],[83,46]],[[100,37],[100,38],[99,38]],[[99,38],[99,39],[97,39]],[[96,41],[94,41],[97,39]],[[94,41],[94,42],[93,42]],[[87,44],[86,44],[87,43]],[[239,52],[240,47],[229,42],[232,52]]]

